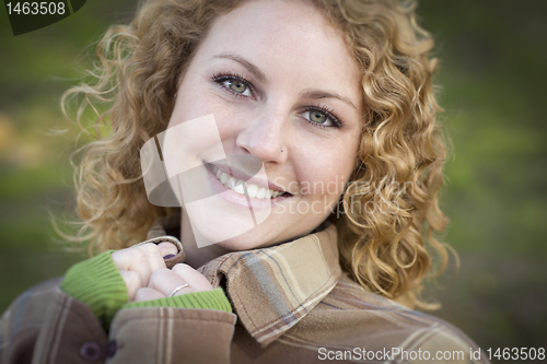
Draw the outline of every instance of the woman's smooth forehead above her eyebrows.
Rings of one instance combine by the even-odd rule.
[[[198,54],[237,54],[267,72],[359,85],[360,72],[344,34],[303,1],[248,1],[219,16]],[[339,90],[342,91],[342,90]]]

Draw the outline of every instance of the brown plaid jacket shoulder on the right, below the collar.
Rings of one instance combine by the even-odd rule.
[[[438,351],[457,352],[461,361],[451,359],[451,363],[474,363],[469,353],[478,351],[477,344],[451,324],[368,292],[347,277],[283,340],[360,355],[362,350],[392,353],[395,349],[395,353],[410,355],[421,350],[434,359]],[[393,355],[384,359],[398,362]],[[407,362],[414,361],[408,357]],[[480,357],[476,362],[488,361]]]

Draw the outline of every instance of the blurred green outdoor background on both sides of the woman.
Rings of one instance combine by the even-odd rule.
[[[56,243],[47,211],[70,213],[79,129],[59,107],[109,24],[136,1],[90,0],[14,37],[0,11],[0,312],[83,254]],[[441,59],[443,122],[454,144],[442,208],[459,253],[455,280],[428,290],[433,312],[482,349],[547,347],[547,2],[423,0]],[[451,268],[453,272],[453,267]]]

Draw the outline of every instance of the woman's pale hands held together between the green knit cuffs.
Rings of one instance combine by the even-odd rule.
[[[188,283],[175,295],[212,290],[209,281],[188,265],[167,269],[163,257],[177,254],[171,243],[149,243],[113,253],[112,259],[127,286],[129,302],[150,301],[168,296],[175,287]]]

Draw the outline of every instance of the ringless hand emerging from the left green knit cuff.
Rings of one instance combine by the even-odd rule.
[[[153,243],[133,246],[112,254],[118,270],[131,270],[141,275],[142,285],[148,285],[150,275],[158,269],[165,268],[160,248]]]

